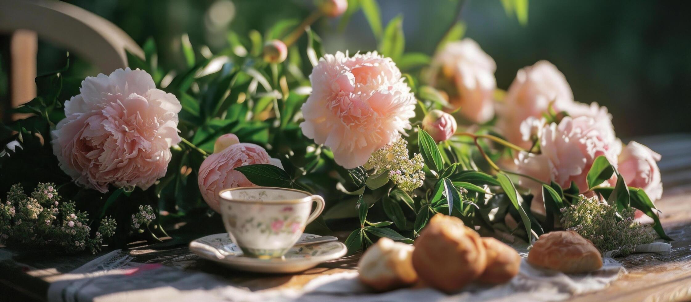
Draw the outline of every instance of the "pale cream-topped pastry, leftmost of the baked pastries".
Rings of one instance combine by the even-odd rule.
[[[394,290],[417,282],[413,269],[413,245],[381,238],[360,258],[360,281],[379,292]]]

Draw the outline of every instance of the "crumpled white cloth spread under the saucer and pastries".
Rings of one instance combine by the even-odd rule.
[[[252,292],[213,274],[135,263],[116,250],[61,275],[51,283],[48,301],[558,301],[600,290],[625,272],[611,258],[602,269],[580,275],[536,270],[524,260],[509,283],[471,284],[451,295],[430,287],[373,293],[355,270],[318,277],[300,290]]]

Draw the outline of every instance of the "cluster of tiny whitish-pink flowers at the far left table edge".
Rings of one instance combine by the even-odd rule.
[[[10,245],[59,246],[66,252],[89,249],[99,252],[102,229],[113,236],[115,220],[101,220],[99,231],[91,238],[88,216],[75,210],[75,203],[61,202],[53,184],[39,183],[30,196],[21,185],[13,185],[6,202],[0,202],[0,243]]]

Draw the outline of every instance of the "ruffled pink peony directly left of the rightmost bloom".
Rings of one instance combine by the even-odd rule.
[[[621,142],[609,137],[608,131],[606,123],[586,116],[564,117],[559,124],[545,125],[540,136],[541,153],[519,153],[515,160],[518,172],[561,187],[569,187],[573,181],[585,193],[586,176],[595,158],[604,155],[616,167]],[[520,185],[535,195],[533,209],[544,212],[542,185],[527,178],[522,178]]]

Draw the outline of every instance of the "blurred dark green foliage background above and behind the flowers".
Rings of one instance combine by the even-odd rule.
[[[378,0],[384,24],[404,16],[406,51],[432,54],[455,21],[459,0]],[[463,1],[463,0],[460,0]],[[164,68],[184,66],[180,35],[195,50],[227,47],[227,32],[263,32],[281,19],[301,20],[311,0],[69,0],[120,26],[142,44],[153,37]],[[498,86],[509,88],[519,68],[547,59],[567,77],[580,102],[598,102],[614,115],[618,136],[691,131],[691,19],[683,1],[531,0],[521,25],[499,0],[469,0],[462,8],[466,37],[475,39],[497,63]],[[347,24],[321,19],[314,26],[325,50],[376,48],[362,12]],[[305,43],[303,37],[299,43]],[[0,39],[0,44],[7,39]],[[39,43],[38,73],[64,66],[64,51]],[[75,56],[73,56],[75,58]],[[6,85],[0,71],[0,97]],[[96,75],[88,62],[73,59],[73,75]]]

